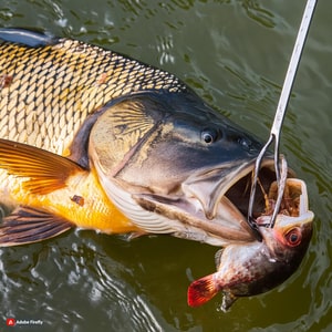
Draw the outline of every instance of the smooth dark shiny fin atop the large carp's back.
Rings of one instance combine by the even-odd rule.
[[[1,28],[0,41],[24,44],[31,48],[52,45],[58,39],[38,31],[19,28]]]

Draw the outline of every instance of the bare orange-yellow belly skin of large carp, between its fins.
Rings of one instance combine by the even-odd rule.
[[[44,195],[29,193],[24,178],[12,177],[9,187],[11,200],[61,216],[77,227],[105,234],[139,231],[107,198],[93,170],[71,176],[65,187]]]

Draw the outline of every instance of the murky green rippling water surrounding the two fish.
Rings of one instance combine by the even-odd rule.
[[[0,0],[0,25],[79,38],[177,74],[266,139],[305,1]],[[186,304],[216,248],[170,237],[126,242],[73,231],[0,250],[0,331],[331,331],[332,2],[319,1],[289,106],[282,152],[309,188],[315,232],[283,286]],[[42,325],[6,326],[6,319]]]

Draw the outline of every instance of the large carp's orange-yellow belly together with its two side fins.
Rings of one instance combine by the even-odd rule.
[[[14,205],[0,225],[0,247],[52,238],[73,227],[105,234],[141,231],[102,190],[93,169],[31,145],[0,138],[0,165]]]

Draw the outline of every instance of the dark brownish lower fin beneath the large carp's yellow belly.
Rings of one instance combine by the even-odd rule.
[[[53,238],[74,225],[61,217],[21,206],[3,218],[0,225],[0,247],[39,242]]]

